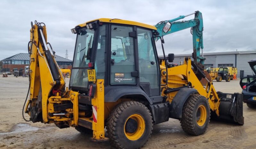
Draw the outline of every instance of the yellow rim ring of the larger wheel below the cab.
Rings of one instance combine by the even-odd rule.
[[[129,119],[133,119],[137,122],[137,129],[133,133],[128,133],[125,131],[125,126]],[[132,114],[126,119],[124,123],[124,134],[129,140],[132,140],[132,141],[138,140],[143,135],[144,131],[145,131],[145,121],[141,115]]]

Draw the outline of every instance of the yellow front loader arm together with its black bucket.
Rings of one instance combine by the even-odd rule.
[[[216,118],[243,125],[241,94],[216,92],[213,82],[208,82],[206,87],[203,87],[192,67],[195,67],[195,65],[193,65],[193,61],[189,57],[185,57],[183,65],[167,68],[167,73],[165,72],[166,67],[161,65],[162,82],[167,82],[167,86],[162,90],[162,96],[167,96],[167,100],[172,105],[178,90],[193,88],[199,95],[208,100],[213,115],[216,115],[216,117],[212,117],[213,119]],[[166,77],[167,75],[168,77]]]

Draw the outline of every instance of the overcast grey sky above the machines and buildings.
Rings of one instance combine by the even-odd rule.
[[[203,15],[204,52],[256,50],[255,7],[255,0],[1,0],[0,60],[27,53],[30,21],[44,22],[48,42],[56,54],[65,57],[67,49],[68,58],[73,59],[76,36],[70,29],[78,24],[98,18],[119,18],[155,25],[197,10]],[[190,29],[164,36],[164,39],[166,54],[192,53]],[[159,43],[158,55],[161,55]]]

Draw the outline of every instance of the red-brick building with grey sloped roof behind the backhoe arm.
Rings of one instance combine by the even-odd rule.
[[[24,67],[29,65],[30,58],[28,53],[19,53],[1,61],[3,62],[2,72],[13,72],[14,70],[24,70]],[[56,62],[60,68],[72,68],[72,60],[56,55]]]

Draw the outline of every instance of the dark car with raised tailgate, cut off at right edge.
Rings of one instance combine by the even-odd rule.
[[[248,61],[254,74],[256,74],[256,59]],[[240,80],[240,86],[243,91],[243,102],[250,108],[256,108],[256,76],[243,77]]]

